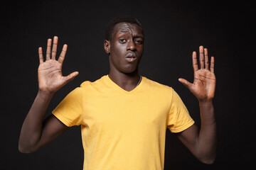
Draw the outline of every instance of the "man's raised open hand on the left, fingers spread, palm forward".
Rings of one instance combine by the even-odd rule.
[[[53,48],[51,49],[52,40],[47,41],[46,61],[43,62],[42,47],[38,48],[40,65],[38,67],[38,86],[40,91],[54,94],[58,89],[73,80],[78,72],[73,72],[67,77],[62,75],[62,66],[68,45],[63,45],[58,60],[55,59],[57,53],[58,37],[53,38]]]

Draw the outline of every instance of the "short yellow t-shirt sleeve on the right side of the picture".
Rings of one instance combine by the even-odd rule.
[[[195,122],[188,113],[188,109],[184,105],[176,91],[173,90],[171,98],[171,107],[169,111],[168,128],[171,132],[181,132],[191,127]]]

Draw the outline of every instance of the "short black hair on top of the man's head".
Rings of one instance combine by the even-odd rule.
[[[113,18],[107,23],[107,26],[105,28],[105,40],[112,40],[114,26],[117,25],[117,23],[136,23],[142,28],[142,24],[139,23],[139,20],[137,18],[134,18],[132,16],[119,16],[117,18]]]

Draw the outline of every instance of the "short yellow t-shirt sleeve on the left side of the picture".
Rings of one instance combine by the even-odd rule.
[[[65,96],[52,113],[58,120],[70,127],[81,125],[82,108],[82,87],[78,87]]]

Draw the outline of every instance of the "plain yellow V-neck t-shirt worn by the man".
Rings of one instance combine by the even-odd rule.
[[[146,77],[132,91],[108,76],[85,81],[53,114],[69,127],[81,125],[84,170],[164,169],[166,129],[194,123],[174,89]]]

